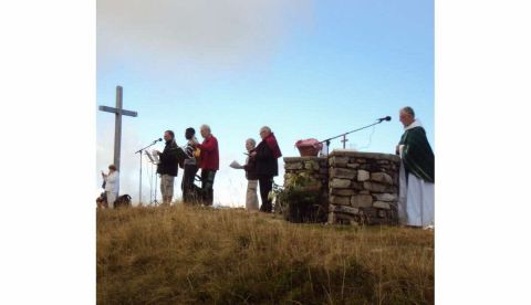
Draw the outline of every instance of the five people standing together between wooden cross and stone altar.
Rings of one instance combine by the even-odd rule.
[[[171,130],[164,133],[166,145],[163,151],[154,150],[159,157],[157,172],[160,175],[160,192],[163,204],[169,206],[174,197],[174,181],[178,168],[184,169],[183,175],[183,201],[185,203],[200,202],[205,206],[212,206],[214,181],[219,170],[219,145],[218,139],[212,135],[210,126],[202,125],[200,134],[204,138],[199,143],[195,136],[196,132],[189,127],[185,132],[186,144],[179,147]],[[282,156],[279,144],[271,128],[260,128],[261,141],[258,144],[250,138],[246,141],[248,158],[242,167],[248,179],[246,207],[250,210],[258,210],[257,189],[260,188],[262,204],[260,211],[272,212],[272,201],[269,192],[273,187],[273,177],[279,175],[278,159]],[[201,187],[194,183],[197,172],[200,172]]]

